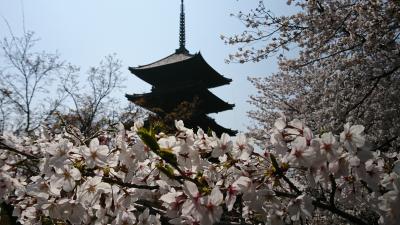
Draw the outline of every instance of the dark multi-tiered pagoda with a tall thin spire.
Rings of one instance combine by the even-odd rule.
[[[136,105],[162,114],[160,116],[176,112],[182,104],[187,103],[191,108],[190,115],[182,118],[185,126],[212,130],[218,135],[235,135],[236,131],[220,126],[207,115],[233,109],[234,104],[228,104],[208,90],[229,84],[232,80],[208,65],[200,52],[190,54],[185,42],[185,13],[181,0],[179,48],[156,62],[129,67],[132,74],[151,84],[152,89],[150,93],[126,94],[126,97]]]

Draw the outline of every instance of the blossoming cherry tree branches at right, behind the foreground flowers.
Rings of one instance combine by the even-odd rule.
[[[270,10],[278,2],[259,2],[236,15],[243,33],[223,37],[238,47],[228,61],[278,59],[276,73],[249,79],[257,89],[249,100],[252,136],[265,142],[265,128],[283,112],[312,130],[339,132],[347,122],[362,124],[382,150],[398,150],[398,1],[288,0],[284,13]]]

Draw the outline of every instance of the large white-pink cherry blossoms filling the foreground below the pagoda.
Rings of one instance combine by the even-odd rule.
[[[0,201],[26,225],[400,219],[400,155],[371,149],[363,126],[314,134],[282,117],[270,131],[271,145],[260,150],[244,134],[217,137],[175,125],[175,135],[140,122],[92,139],[70,132],[5,135]]]

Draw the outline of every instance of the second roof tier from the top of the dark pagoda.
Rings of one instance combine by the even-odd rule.
[[[150,93],[126,95],[128,100],[140,105],[150,111],[160,108],[165,112],[172,112],[180,103],[196,102],[197,113],[217,113],[229,109],[233,109],[234,104],[229,104],[208,89],[201,87],[187,86],[176,87],[175,89],[153,89]]]

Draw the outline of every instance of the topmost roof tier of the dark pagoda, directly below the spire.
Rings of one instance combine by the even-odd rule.
[[[154,87],[201,83],[206,88],[213,88],[232,81],[208,65],[200,52],[192,55],[177,51],[156,62],[129,67],[129,70]]]

